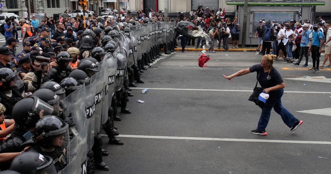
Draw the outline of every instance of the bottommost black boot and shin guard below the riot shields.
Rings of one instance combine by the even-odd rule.
[[[95,168],[107,171],[107,170],[110,170],[110,168],[102,160],[102,148],[101,147],[102,147],[102,138],[101,138],[101,134],[98,133],[97,135],[94,136],[94,144],[92,146],[94,165],[95,165]]]

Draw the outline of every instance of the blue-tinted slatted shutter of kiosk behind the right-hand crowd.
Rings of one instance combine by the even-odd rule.
[[[264,19],[265,21],[270,20],[272,23],[273,20],[276,20],[277,23],[289,22],[294,19],[294,13],[255,13],[254,14],[254,33],[259,25],[259,21]]]

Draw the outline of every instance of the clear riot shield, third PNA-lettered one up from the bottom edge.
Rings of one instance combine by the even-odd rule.
[[[91,77],[91,80],[96,83],[95,87],[95,113],[94,113],[94,135],[100,131],[101,115],[102,115],[102,103],[103,103],[103,87],[104,87],[104,69],[102,66],[99,67],[99,72]]]

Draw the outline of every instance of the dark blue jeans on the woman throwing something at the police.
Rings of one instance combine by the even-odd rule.
[[[283,96],[284,89],[269,93],[269,98],[265,102],[265,105],[262,109],[261,117],[258,123],[258,130],[263,131],[268,125],[270,119],[270,112],[273,108],[277,114],[279,114],[283,122],[289,127],[297,122],[297,119],[282,106],[281,97]]]

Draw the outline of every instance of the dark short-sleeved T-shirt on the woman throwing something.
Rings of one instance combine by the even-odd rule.
[[[279,72],[275,68],[272,68],[270,71],[270,74],[269,74],[270,80],[267,79],[269,72],[264,72],[263,68],[261,67],[260,64],[251,66],[249,68],[249,71],[251,73],[257,72],[256,77],[258,77],[259,72],[260,72],[260,76],[259,76],[258,80],[259,80],[261,87],[263,87],[263,88],[274,87],[274,86],[279,85],[284,82],[282,79],[282,76],[279,74]],[[270,92],[273,92],[273,91],[270,91]]]

